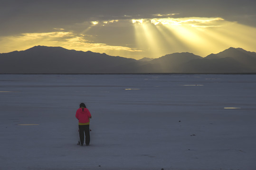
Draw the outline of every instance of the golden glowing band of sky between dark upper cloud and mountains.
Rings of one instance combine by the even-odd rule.
[[[256,51],[255,27],[221,17],[172,18],[173,15],[176,14],[83,22],[76,24],[79,31],[54,27],[52,32],[0,36],[0,52],[45,45],[141,59],[174,52],[205,57],[229,47]]]

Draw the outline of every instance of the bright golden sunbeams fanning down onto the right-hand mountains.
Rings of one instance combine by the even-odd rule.
[[[142,18],[133,19],[132,23],[139,42],[137,46],[141,47],[143,44],[146,49],[147,44],[152,50],[150,57],[153,58],[160,57],[162,53],[173,52],[192,52],[205,57],[229,47],[256,50],[256,28],[229,22],[220,17]]]

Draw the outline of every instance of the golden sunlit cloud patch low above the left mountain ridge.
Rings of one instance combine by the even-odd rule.
[[[86,30],[88,29],[90,27]],[[83,32],[86,32],[86,30]],[[38,42],[44,46],[60,46],[69,50],[93,51],[114,56],[123,56],[127,52],[140,52],[140,50],[130,47],[94,43],[86,40],[84,34],[73,32],[26,33],[18,36],[6,36],[0,39],[0,43],[4,44],[0,47],[0,50],[4,49],[6,52],[12,51],[12,49],[22,51],[38,45]]]

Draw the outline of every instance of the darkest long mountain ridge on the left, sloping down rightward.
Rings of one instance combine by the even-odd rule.
[[[76,74],[104,73],[110,68],[137,60],[92,51],[35,46],[25,51],[1,54],[0,61],[0,73]]]

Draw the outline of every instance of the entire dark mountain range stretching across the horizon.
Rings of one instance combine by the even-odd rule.
[[[129,59],[92,51],[35,46],[0,53],[0,74],[256,73],[256,52],[230,47],[200,57],[189,52],[157,59]]]

